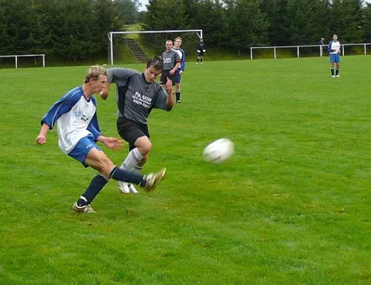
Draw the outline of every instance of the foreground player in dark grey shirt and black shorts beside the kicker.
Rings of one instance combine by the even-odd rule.
[[[129,142],[130,150],[120,167],[123,170],[140,172],[147,162],[152,148],[147,125],[151,110],[158,108],[169,111],[174,106],[172,82],[167,81],[166,91],[155,82],[162,73],[163,66],[162,58],[155,57],[147,62],[144,73],[127,68],[108,68],[108,83],[100,97],[106,100],[110,84],[116,84],[117,132]],[[118,187],[124,194],[137,193],[131,183],[119,181]]]

